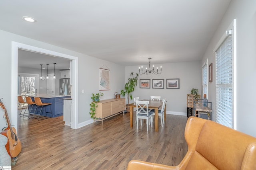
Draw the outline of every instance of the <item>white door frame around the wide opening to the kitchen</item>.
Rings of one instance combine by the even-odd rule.
[[[78,57],[71,55],[66,55],[63,53],[58,53],[56,51],[50,51],[47,49],[42,49],[39,47],[34,47],[27,44],[18,43],[12,41],[12,83],[11,83],[11,122],[13,127],[18,131],[18,109],[17,104],[17,94],[18,94],[18,49],[32,51],[36,53],[43,53],[46,55],[58,56],[72,61],[72,129],[78,128]]]

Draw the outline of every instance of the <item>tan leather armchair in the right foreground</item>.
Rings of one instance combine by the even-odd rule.
[[[256,138],[214,121],[189,117],[188,152],[178,166],[131,160],[128,170],[256,170]]]

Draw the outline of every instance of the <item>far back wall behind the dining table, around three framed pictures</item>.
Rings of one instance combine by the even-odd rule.
[[[151,62],[151,64],[154,64]],[[162,65],[162,73],[139,75],[138,86],[135,88],[132,96],[140,99],[149,99],[150,96],[161,96],[166,98],[166,112],[169,114],[186,115],[187,113],[187,94],[190,94],[192,88],[198,88],[201,91],[201,62],[182,62],[154,64],[155,67]],[[148,65],[143,65],[144,68]],[[130,77],[130,73],[138,73],[139,66],[126,66],[125,79]],[[180,89],[166,89],[166,79],[180,78]],[[140,88],[140,79],[150,79],[150,89]],[[164,79],[164,89],[152,88],[152,79]]]

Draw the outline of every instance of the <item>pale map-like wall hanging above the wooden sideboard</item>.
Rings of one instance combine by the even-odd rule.
[[[110,90],[110,70],[100,68],[100,91]]]

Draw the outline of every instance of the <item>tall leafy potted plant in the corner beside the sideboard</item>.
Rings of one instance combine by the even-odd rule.
[[[134,91],[134,88],[138,84],[139,74],[138,73],[134,74],[134,72],[131,72],[130,76],[131,77],[128,78],[128,81],[124,85],[124,90],[121,90],[121,95],[122,96],[125,96],[125,94],[127,95],[128,104],[130,104],[129,98],[130,98],[130,100],[132,100],[132,92]],[[126,111],[129,112],[130,109],[126,108]]]

